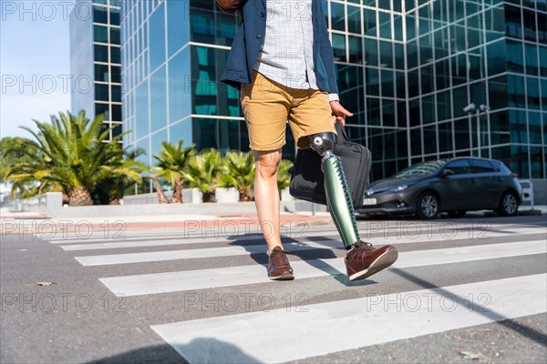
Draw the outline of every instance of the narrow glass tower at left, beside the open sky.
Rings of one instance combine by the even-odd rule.
[[[70,13],[72,113],[105,115],[110,137],[121,134],[119,0],[77,0]]]

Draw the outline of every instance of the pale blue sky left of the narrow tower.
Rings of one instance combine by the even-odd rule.
[[[0,0],[0,137],[32,137],[32,119],[70,110],[73,0]]]

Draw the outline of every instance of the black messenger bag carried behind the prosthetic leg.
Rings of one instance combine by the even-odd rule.
[[[363,207],[372,156],[366,147],[348,141],[346,130],[339,121],[336,121],[335,128],[337,137],[334,153],[342,160],[354,207]],[[321,156],[311,148],[298,149],[289,187],[291,196],[326,205],[324,185]]]

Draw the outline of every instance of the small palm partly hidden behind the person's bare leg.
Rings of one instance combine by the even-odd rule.
[[[224,157],[223,166],[225,173],[219,179],[219,187],[235,187],[240,201],[250,201],[255,174],[253,152],[230,151]]]

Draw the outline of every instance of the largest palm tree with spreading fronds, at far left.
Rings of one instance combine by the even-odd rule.
[[[24,144],[26,160],[5,173],[14,187],[38,181],[36,194],[60,190],[68,196],[69,206],[88,206],[93,205],[91,191],[108,178],[141,180],[143,166],[128,158],[128,149],[119,143],[125,133],[107,142],[113,127],[103,128],[103,116],[89,120],[80,111],[77,116],[51,116],[50,124],[33,121],[37,132],[22,126],[36,139]]]

